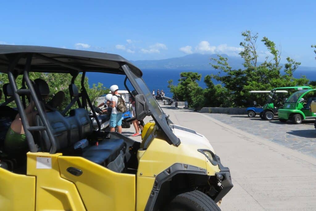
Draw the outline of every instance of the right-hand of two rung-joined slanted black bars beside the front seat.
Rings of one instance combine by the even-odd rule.
[[[44,110],[43,110],[43,108],[42,108],[42,106],[40,104],[40,101],[37,98],[37,95],[35,93],[33,84],[31,82],[30,78],[28,77],[28,72],[31,69],[32,57],[33,57],[32,54],[28,54],[27,55],[27,60],[26,60],[26,65],[25,65],[26,68],[25,68],[25,70],[23,72],[23,76],[24,76],[26,85],[27,85],[28,89],[30,90],[31,96],[32,96],[33,101],[35,103],[35,106],[37,108],[38,115],[40,116],[40,118],[41,118],[41,120],[43,122],[43,125],[46,128],[47,136],[48,136],[49,140],[51,141],[51,149],[50,149],[49,153],[54,154],[57,151],[57,144],[56,144],[55,137],[54,137],[54,135],[53,135],[53,133],[52,133],[52,131],[50,129],[50,125],[49,125],[47,119],[45,118],[46,117],[45,112],[44,112]],[[28,130],[29,127],[24,127],[24,128],[27,128],[27,130]],[[33,140],[33,137],[32,137],[32,140]],[[34,141],[33,141],[33,144],[34,144]]]

